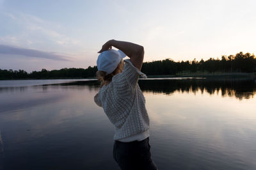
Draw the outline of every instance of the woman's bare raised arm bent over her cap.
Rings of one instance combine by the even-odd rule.
[[[111,49],[112,46],[116,47],[116,49],[122,50],[122,52],[124,52],[130,58],[132,65],[141,70],[144,58],[143,46],[131,42],[109,40],[102,45],[102,49],[99,51],[99,53],[103,52],[104,50]]]

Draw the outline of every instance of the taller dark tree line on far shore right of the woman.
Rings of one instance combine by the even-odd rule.
[[[239,52],[236,55],[221,56],[221,59],[210,58],[204,61],[178,61],[164,59],[143,63],[141,72],[147,75],[175,75],[181,72],[256,72],[254,54]]]

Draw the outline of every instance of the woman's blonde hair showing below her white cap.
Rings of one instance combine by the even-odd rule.
[[[118,64],[118,66],[116,67],[116,69],[112,72],[109,73],[108,75],[107,72],[104,71],[97,71],[96,72],[96,77],[98,79],[98,81],[100,81],[100,88],[102,88],[102,86],[109,84],[109,82],[112,81],[112,77],[114,75],[116,75],[117,73],[121,73],[124,69],[124,61],[123,59],[120,61],[120,63]]]

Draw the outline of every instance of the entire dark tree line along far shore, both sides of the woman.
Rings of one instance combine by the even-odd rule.
[[[88,78],[95,77],[97,66],[88,68],[62,68],[60,70],[33,71],[1,70],[0,79],[54,79],[54,78]],[[182,72],[256,72],[256,58],[254,54],[239,52],[236,55],[221,56],[221,59],[210,58],[204,61],[173,61],[164,59],[145,62],[141,72],[147,75],[176,75]]]

